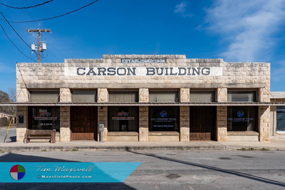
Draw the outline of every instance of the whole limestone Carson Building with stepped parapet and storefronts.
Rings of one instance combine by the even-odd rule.
[[[17,141],[260,141],[270,136],[270,63],[103,55],[17,63]],[[14,104],[15,105],[15,104]]]

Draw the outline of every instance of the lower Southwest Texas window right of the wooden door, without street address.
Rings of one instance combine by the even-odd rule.
[[[139,107],[137,106],[108,106],[108,131],[138,132]]]

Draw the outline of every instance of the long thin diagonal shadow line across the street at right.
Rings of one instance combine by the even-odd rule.
[[[221,168],[218,168],[218,167],[212,167],[212,166],[207,166],[207,165],[203,165],[203,164],[196,164],[196,163],[192,163],[192,162],[185,162],[185,161],[182,161],[182,160],[176,160],[176,159],[167,158],[167,157],[164,157],[164,156],[157,156],[157,155],[154,155],[154,154],[139,153],[139,152],[134,152],[134,151],[131,151],[131,150],[127,150],[127,151],[135,153],[135,154],[151,156],[151,157],[162,159],[162,160],[168,160],[168,161],[172,161],[172,162],[178,162],[178,163],[181,163],[181,164],[187,164],[187,165],[191,165],[191,166],[201,167],[201,168],[204,168],[204,169],[211,169],[211,170],[215,170],[215,171],[220,171],[220,172],[223,172],[223,173],[237,175],[237,176],[240,176],[240,177],[245,177],[245,178],[252,179],[252,180],[255,180],[255,181],[259,181],[259,182],[263,182],[263,183],[269,183],[269,184],[285,187],[285,183],[283,183],[283,182],[274,181],[274,180],[266,179],[266,178],[263,178],[263,177],[257,177],[257,176],[246,174],[246,173],[241,173],[241,172],[237,172],[237,171],[231,171],[231,170],[228,170],[228,169],[221,169]]]

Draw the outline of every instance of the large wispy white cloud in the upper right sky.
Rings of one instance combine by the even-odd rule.
[[[205,25],[229,45],[225,61],[256,62],[270,57],[274,38],[285,21],[285,0],[218,0],[206,10]]]

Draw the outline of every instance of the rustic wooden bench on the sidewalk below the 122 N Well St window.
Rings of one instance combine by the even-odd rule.
[[[29,139],[50,139],[50,143],[55,143],[55,129],[53,130],[30,130],[27,129],[24,143],[29,143]],[[32,135],[32,136],[31,136]]]

